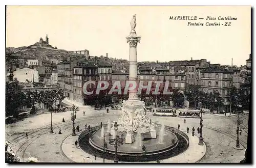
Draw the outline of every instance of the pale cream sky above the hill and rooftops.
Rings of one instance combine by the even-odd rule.
[[[45,40],[65,50],[90,51],[129,60],[126,38],[136,14],[138,61],[207,59],[211,64],[245,65],[251,53],[249,6],[8,6],[6,47]],[[170,20],[197,16],[204,20]],[[237,17],[237,20],[205,20]],[[187,26],[188,22],[231,22],[230,26]]]

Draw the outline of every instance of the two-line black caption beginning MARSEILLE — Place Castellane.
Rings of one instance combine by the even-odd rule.
[[[205,17],[197,17],[197,16],[170,16],[169,20],[189,20],[187,23],[188,26],[220,26],[220,25],[226,25],[230,26],[231,22],[223,22],[223,21],[229,21],[229,20],[237,20],[237,17],[231,17],[231,16],[207,16]],[[207,20],[206,23],[197,22],[196,20]]]

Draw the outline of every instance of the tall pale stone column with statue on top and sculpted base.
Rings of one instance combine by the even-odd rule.
[[[137,72],[137,44],[140,42],[140,36],[137,36],[136,31],[136,15],[133,15],[131,21],[131,32],[130,35],[126,37],[127,43],[130,44],[130,71],[129,71],[129,81],[134,81],[137,83],[135,89],[129,91],[129,99],[123,101],[122,112],[123,114],[118,119],[117,123],[119,125],[119,131],[125,131],[125,143],[132,144],[134,139],[134,133],[144,134],[146,137],[156,138],[155,124],[150,123],[144,115],[144,101],[139,101],[138,98],[138,72]],[[130,82],[132,83],[132,82]],[[140,136],[140,135],[139,135]]]

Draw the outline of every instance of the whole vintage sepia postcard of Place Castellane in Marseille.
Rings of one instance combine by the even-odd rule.
[[[250,6],[7,6],[6,162],[249,163],[251,57]]]

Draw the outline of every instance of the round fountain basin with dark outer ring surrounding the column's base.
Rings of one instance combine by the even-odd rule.
[[[158,125],[158,124],[157,124]],[[104,125],[104,130],[106,130],[107,124]],[[161,125],[158,125],[157,131],[159,132]],[[95,129],[91,131],[91,137],[89,138],[89,131],[83,131],[78,138],[79,147],[91,155],[96,155],[97,157],[103,158],[103,139],[100,138],[100,126],[96,126]],[[113,160],[115,156],[115,148],[109,144],[109,135],[105,132],[105,143],[108,148],[105,149],[104,157],[105,159]],[[123,132],[122,132],[123,133]],[[119,135],[121,133],[118,133]],[[127,162],[138,162],[138,161],[153,161],[158,159],[166,159],[179,155],[184,152],[189,146],[188,136],[176,128],[165,126],[164,130],[164,142],[159,144],[159,140],[156,139],[145,139],[142,141],[142,146],[146,146],[146,152],[142,151],[141,147],[136,146],[137,134],[135,133],[135,142],[133,144],[123,144],[117,148],[117,155],[119,161]],[[170,136],[177,138],[176,142],[172,143]],[[95,137],[97,140],[95,140]],[[125,137],[125,135],[124,135]],[[113,137],[111,137],[113,138]],[[155,141],[155,142],[154,142]],[[169,143],[171,142],[171,143]],[[147,146],[147,144],[152,145]],[[129,146],[130,145],[130,146]],[[126,147],[125,147],[126,146]],[[131,146],[133,146],[131,148]],[[129,148],[130,147],[130,148]],[[126,149],[125,149],[126,148]]]

